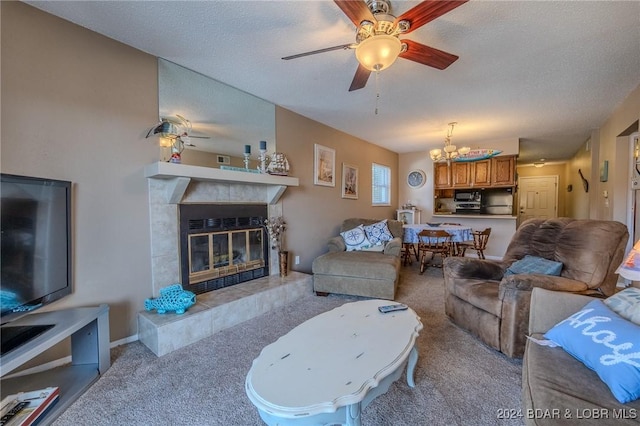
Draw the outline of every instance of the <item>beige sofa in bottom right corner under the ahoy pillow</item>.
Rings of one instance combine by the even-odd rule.
[[[543,334],[592,301],[589,296],[534,288],[529,335]],[[598,375],[562,348],[527,342],[522,361],[522,405],[528,425],[638,425],[640,400],[620,404]],[[627,417],[627,418],[624,418]]]

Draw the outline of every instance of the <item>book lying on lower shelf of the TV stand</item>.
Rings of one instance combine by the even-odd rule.
[[[7,396],[0,404],[0,426],[37,424],[59,396],[60,389],[55,386]]]

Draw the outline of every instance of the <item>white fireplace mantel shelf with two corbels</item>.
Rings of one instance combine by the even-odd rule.
[[[171,204],[180,202],[192,179],[217,183],[266,185],[269,204],[277,203],[287,187],[299,185],[298,178],[289,176],[222,170],[162,161],[145,166],[144,175],[147,178],[166,179],[171,182],[167,187],[167,200]]]

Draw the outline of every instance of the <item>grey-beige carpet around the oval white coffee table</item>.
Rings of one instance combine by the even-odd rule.
[[[403,267],[397,300],[421,317],[416,387],[403,377],[362,414],[363,425],[520,425],[522,362],[480,343],[444,314],[442,270]],[[55,422],[76,425],[262,425],[244,380],[262,348],[350,296],[312,294],[157,358],[139,342],[112,351],[112,366]],[[301,390],[303,391],[303,390]]]

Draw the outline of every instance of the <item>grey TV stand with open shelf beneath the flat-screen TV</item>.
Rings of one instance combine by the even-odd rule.
[[[0,357],[2,398],[48,386],[60,388],[58,402],[43,418],[43,424],[51,423],[111,366],[108,305],[29,314],[13,321],[10,326],[46,324],[53,324],[53,327]],[[40,373],[4,378],[69,337],[71,364]]]

